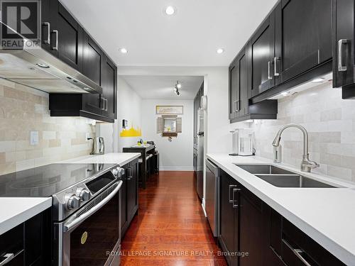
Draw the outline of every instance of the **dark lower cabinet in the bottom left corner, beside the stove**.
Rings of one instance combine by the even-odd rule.
[[[0,264],[6,254],[13,259],[6,266],[51,265],[51,209],[0,235]]]

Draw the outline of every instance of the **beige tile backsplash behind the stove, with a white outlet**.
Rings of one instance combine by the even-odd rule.
[[[45,92],[0,79],[0,174],[88,155],[94,130],[86,118],[51,117]]]

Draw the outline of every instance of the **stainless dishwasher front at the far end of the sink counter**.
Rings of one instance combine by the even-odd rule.
[[[219,168],[206,160],[206,214],[213,235],[219,235]]]

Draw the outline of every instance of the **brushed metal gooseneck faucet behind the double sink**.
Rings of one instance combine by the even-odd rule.
[[[310,155],[308,154],[308,133],[306,129],[300,125],[295,123],[290,123],[280,128],[275,139],[273,140],[273,146],[278,147],[280,145],[281,134],[286,128],[298,128],[303,133],[303,158],[301,163],[301,171],[302,172],[310,172],[312,168],[320,167],[317,162],[310,160]]]

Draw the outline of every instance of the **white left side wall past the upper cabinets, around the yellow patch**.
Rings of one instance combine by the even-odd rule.
[[[121,138],[122,120],[129,121],[129,127],[133,124],[141,128],[141,97],[127,84],[124,79],[117,79],[117,119],[115,123],[97,124],[97,136],[104,137],[107,153],[121,153],[122,148],[134,145],[140,137]]]

